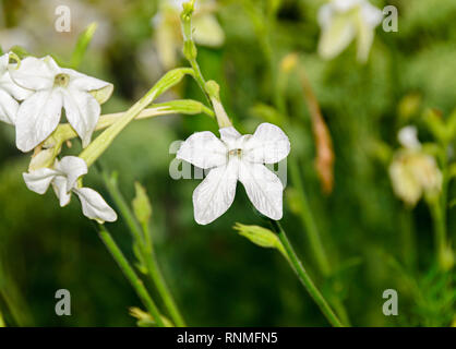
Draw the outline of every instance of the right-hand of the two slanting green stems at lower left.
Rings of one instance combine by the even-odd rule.
[[[131,212],[127,201],[124,200],[122,193],[117,185],[117,180],[115,177],[109,177],[106,171],[103,172],[103,178],[108,189],[109,194],[111,195],[116,206],[119,208],[120,214],[125,220],[133,239],[139,242],[140,253],[143,255],[146,263],[147,275],[151,277],[152,282],[158,290],[161,299],[164,300],[165,306],[171,315],[171,318],[176,326],[184,327],[185,322],[182,315],[179,312],[179,309],[171,296],[171,292],[163,277],[163,274],[159,269],[157,260],[154,254],[153,244],[151,241],[151,234],[148,227],[144,226],[141,228],[140,224],[135,219],[133,213]]]

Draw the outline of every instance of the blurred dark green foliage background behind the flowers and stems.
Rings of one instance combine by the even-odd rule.
[[[253,132],[264,121],[259,106],[274,104],[277,86],[248,9],[262,13],[269,1],[216,3],[225,43],[219,48],[199,47],[199,61],[204,75],[219,82],[235,127]],[[448,115],[456,107],[456,2],[372,1],[379,8],[398,8],[399,31],[385,33],[377,27],[364,65],[357,63],[353,45],[332,61],[316,55],[316,13],[323,3],[281,1],[268,40],[277,62],[290,52],[301,55],[299,64],[307,71],[333,137],[335,186],[325,195],[314,167],[308,107],[299,84],[291,81],[285,100],[291,122],[284,128],[292,153],[300,158],[304,190],[337,273],[323,279],[317,272],[304,228],[287,204],[292,202],[289,178],[283,225],[323,292],[337,290],[352,325],[448,326],[456,320],[455,273],[436,270],[428,207],[421,202],[407,209],[395,197],[382,149],[396,148],[397,131],[409,123],[419,127],[422,141],[430,139],[421,123],[422,111],[437,108]],[[115,84],[104,113],[125,110],[164,73],[151,25],[156,0],[3,0],[0,4],[2,49],[21,45],[38,57],[52,53],[69,59],[77,35],[89,23],[99,23],[80,70]],[[59,4],[72,11],[70,33],[55,29]],[[204,101],[190,80],[164,98],[177,97]],[[199,226],[193,220],[191,195],[200,180],[170,178],[175,155],[169,146],[202,130],[217,131],[205,116],[133,122],[101,157],[106,168],[119,172],[127,197],[134,195],[133,181],[146,186],[154,207],[158,260],[187,322],[326,326],[280,255],[232,230],[237,221],[264,225],[250,209],[241,185],[235,204],[214,224]],[[0,309],[7,322],[14,315],[17,325],[134,326],[128,308],[140,302],[93,224],[81,215],[80,204],[73,198],[70,206],[60,208],[53,193],[39,196],[28,191],[22,172],[29,156],[15,148],[13,128],[2,124],[0,133]],[[75,144],[70,153],[76,151]],[[95,169],[86,182],[110,202]],[[455,197],[454,185],[449,197]],[[454,213],[454,208],[448,212],[451,241],[456,238]],[[122,220],[109,228],[132,257]],[[413,253],[416,263],[408,265]],[[61,288],[71,292],[71,316],[55,313],[55,292]],[[399,316],[382,313],[382,293],[391,288],[399,294]]]

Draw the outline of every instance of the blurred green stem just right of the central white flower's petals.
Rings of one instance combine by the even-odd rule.
[[[319,266],[319,269],[322,272],[324,276],[328,276],[331,274],[329,262],[328,262],[326,252],[323,248],[319,229],[316,227],[315,220],[310,209],[309,201],[305,195],[304,186],[301,180],[301,173],[299,171],[298,161],[292,156],[290,156],[289,167],[290,167],[291,181],[296,185],[296,189],[299,195],[299,201],[300,201],[301,208],[302,208],[300,218],[301,218],[302,225],[305,228],[305,232],[308,234],[311,250],[315,255],[315,261]]]

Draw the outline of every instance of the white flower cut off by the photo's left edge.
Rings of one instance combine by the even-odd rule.
[[[32,92],[17,86],[11,80],[9,62],[10,53],[0,57],[0,121],[14,124],[19,109],[17,100],[25,99]]]

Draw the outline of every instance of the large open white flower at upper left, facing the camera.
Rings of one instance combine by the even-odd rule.
[[[28,152],[45,141],[58,127],[62,108],[83,146],[87,146],[98,122],[99,105],[112,93],[111,84],[60,68],[49,56],[27,57],[10,69],[10,75],[17,85],[34,91],[17,110],[19,149]]]

